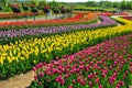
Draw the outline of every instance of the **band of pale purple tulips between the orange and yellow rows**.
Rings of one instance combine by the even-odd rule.
[[[92,14],[91,14],[92,15]],[[51,33],[61,33],[67,31],[77,31],[82,29],[96,29],[96,28],[103,28],[103,26],[112,26],[117,25],[114,20],[111,20],[108,16],[100,16],[100,23],[94,24],[76,24],[76,25],[64,25],[64,26],[50,26],[50,28],[41,28],[41,29],[22,29],[22,30],[9,30],[9,31],[0,31],[0,42],[1,44],[8,42],[14,42],[15,40],[20,40],[22,36],[38,36],[40,34],[51,34]]]

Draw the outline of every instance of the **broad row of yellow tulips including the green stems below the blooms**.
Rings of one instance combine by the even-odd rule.
[[[125,21],[125,20],[124,20]],[[73,54],[103,40],[132,32],[132,25],[84,30],[55,34],[42,38],[18,41],[0,45],[0,79],[31,69],[40,62]]]

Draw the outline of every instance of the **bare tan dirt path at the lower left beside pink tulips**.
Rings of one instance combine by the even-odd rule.
[[[28,88],[32,82],[34,73],[29,72],[0,81],[0,88]]]

